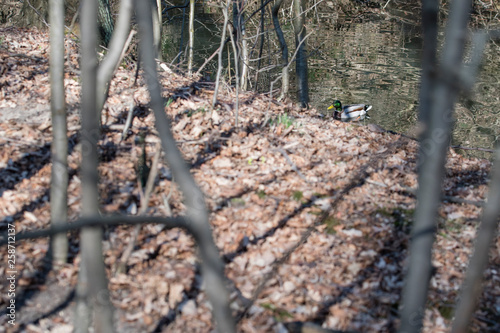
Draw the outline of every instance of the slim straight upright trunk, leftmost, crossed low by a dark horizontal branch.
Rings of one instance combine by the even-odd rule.
[[[50,0],[50,108],[53,140],[50,183],[50,220],[54,226],[68,219],[68,134],[64,92],[64,1]],[[58,234],[52,238],[52,259],[66,262],[68,238]]]

